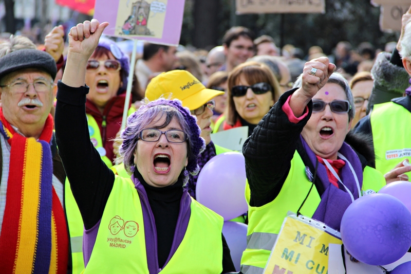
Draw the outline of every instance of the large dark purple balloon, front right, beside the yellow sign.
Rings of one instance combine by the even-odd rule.
[[[363,196],[345,211],[341,238],[348,252],[360,262],[394,263],[411,246],[411,213],[393,196]]]

